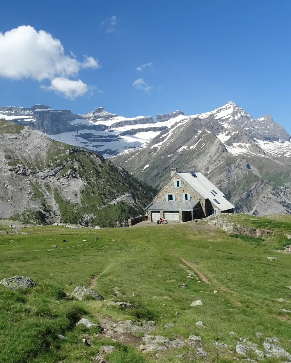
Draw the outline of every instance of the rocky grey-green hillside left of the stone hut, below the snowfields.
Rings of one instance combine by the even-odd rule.
[[[154,193],[101,155],[0,121],[0,218],[122,226]]]

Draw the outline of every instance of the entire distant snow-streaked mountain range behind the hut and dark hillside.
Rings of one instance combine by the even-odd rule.
[[[103,107],[84,115],[37,108],[29,112],[32,116],[15,122],[110,157],[154,187],[161,186],[171,166],[178,166],[205,174],[225,190],[237,212],[291,212],[290,135],[267,114],[253,118],[231,101],[196,115],[179,110],[157,115],[156,122],[151,116],[110,114]]]

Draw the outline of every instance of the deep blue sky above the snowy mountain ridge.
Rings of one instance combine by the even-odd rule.
[[[253,117],[270,114],[291,133],[290,13],[291,2],[282,0],[5,2],[0,106],[42,103],[74,113],[103,106],[132,117],[196,114],[233,101]],[[30,40],[4,35],[20,25],[36,30]],[[61,73],[35,49],[40,30],[52,48],[49,34],[64,48],[51,59],[65,63]],[[138,79],[145,83],[133,85]],[[70,86],[83,94],[72,99]]]

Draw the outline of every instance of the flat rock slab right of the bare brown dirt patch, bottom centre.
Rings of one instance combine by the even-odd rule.
[[[168,348],[183,348],[185,346],[185,339],[183,338],[172,340],[161,335],[145,335],[142,340],[144,344],[140,345],[140,350],[144,353]]]

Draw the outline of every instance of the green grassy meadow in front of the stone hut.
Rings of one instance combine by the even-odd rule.
[[[77,329],[74,323],[85,316],[95,322],[106,316],[116,321],[154,319],[158,326],[153,334],[170,338],[200,335],[208,353],[207,362],[233,362],[235,354],[227,350],[217,355],[213,346],[216,339],[229,344],[235,352],[241,337],[263,349],[263,338],[275,335],[291,353],[291,315],[281,311],[291,310],[290,290],[286,288],[291,286],[291,256],[274,250],[288,241],[284,233],[290,232],[291,218],[274,216],[252,221],[253,216],[226,217],[257,228],[273,228],[274,233],[254,239],[256,248],[254,241],[246,237],[231,237],[197,224],[97,231],[43,226],[23,229],[32,234],[0,235],[0,279],[18,274],[37,283],[26,291],[0,287],[0,346],[4,347],[0,349],[0,362],[89,363],[104,344],[117,348],[108,356],[109,363],[154,362],[154,354],[141,354],[130,346]],[[57,248],[51,249],[55,244]],[[277,261],[270,262],[269,256]],[[194,271],[194,278],[187,281],[186,270],[191,269],[179,257],[193,263],[210,284],[201,281]],[[62,298],[63,291],[69,293],[77,285],[88,286],[96,275],[99,277],[94,290],[110,300],[113,288],[118,287],[123,294],[118,299],[134,303],[137,309],[122,311],[109,308],[106,302]],[[179,288],[183,283],[188,285],[186,289]],[[218,293],[214,294],[214,290]],[[287,302],[279,303],[277,299],[281,297]],[[64,301],[58,304],[60,299]],[[196,299],[201,299],[203,306],[190,307]],[[205,326],[195,326],[197,321],[203,321]],[[169,322],[174,323],[173,329],[164,328]],[[236,335],[229,335],[230,331]],[[262,338],[255,337],[257,331],[263,334]],[[68,339],[60,340],[58,334]],[[92,346],[83,345],[84,334]],[[185,346],[163,352],[159,361],[184,362],[175,355],[189,352],[194,352],[194,348]]]

